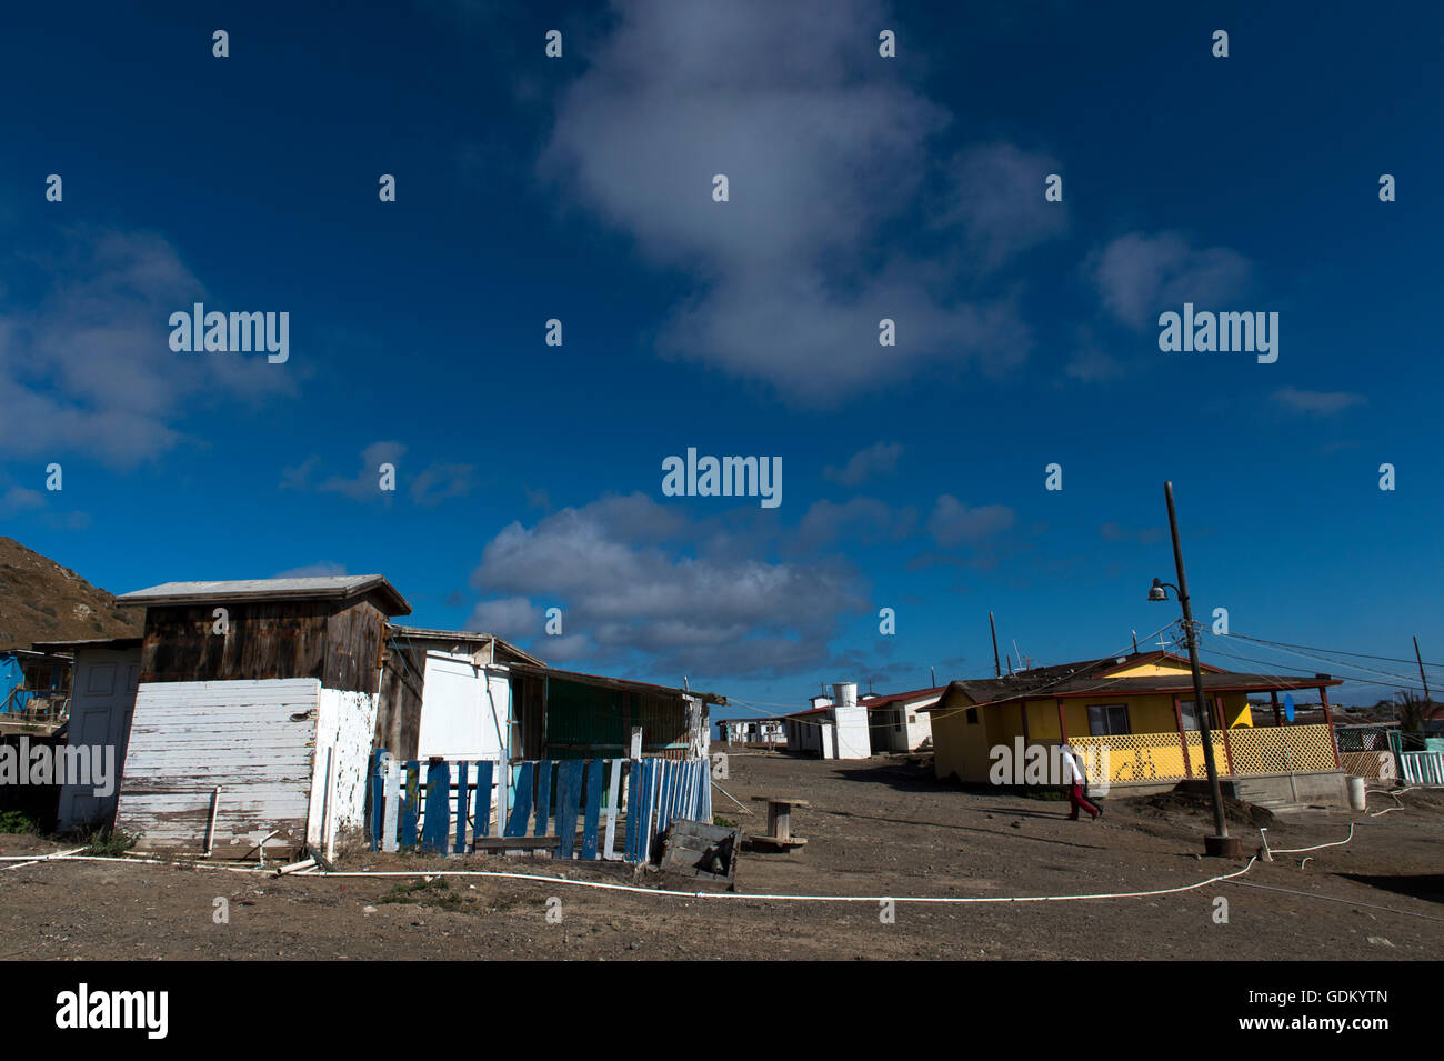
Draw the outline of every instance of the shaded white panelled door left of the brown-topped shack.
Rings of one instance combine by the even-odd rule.
[[[84,780],[85,784],[61,788],[61,831],[104,826],[116,814],[139,677],[139,645],[77,650],[66,746],[88,749],[92,775]],[[78,756],[71,758],[74,761]],[[104,778],[98,772],[100,759],[104,759]],[[103,785],[94,784],[103,780]]]

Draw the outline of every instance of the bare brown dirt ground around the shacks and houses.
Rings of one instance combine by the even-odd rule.
[[[793,855],[744,853],[751,894],[1037,896],[1177,888],[1240,869],[1203,859],[1207,805],[1113,798],[1097,823],[1067,804],[970,793],[904,758],[729,756],[713,811],[762,831],[754,795],[809,800]],[[796,902],[641,895],[495,878],[287,876],[108,862],[0,863],[0,959],[1434,959],[1444,944],[1444,791],[1370,794],[1369,811],[1268,826],[1275,849],[1352,843],[1258,862],[1240,882],[1171,895],[1064,902]],[[1258,846],[1268,814],[1230,829]],[[0,836],[0,855],[61,850]],[[1302,865],[1301,865],[1302,863]],[[339,869],[500,869],[631,883],[622,866],[542,857],[364,852]],[[656,876],[644,879],[657,886]],[[673,882],[674,883],[674,882]],[[1291,889],[1291,891],[1275,891]],[[695,891],[695,888],[692,889]],[[1295,894],[1302,892],[1302,895]],[[215,899],[230,922],[217,924]],[[549,899],[559,899],[549,905]],[[1227,920],[1220,922],[1227,901]],[[553,921],[547,920],[549,908]],[[559,921],[556,920],[560,914]]]

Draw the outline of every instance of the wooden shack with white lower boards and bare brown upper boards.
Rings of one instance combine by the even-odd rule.
[[[144,608],[116,827],[215,857],[322,850],[358,833],[387,619],[380,575],[170,582]]]

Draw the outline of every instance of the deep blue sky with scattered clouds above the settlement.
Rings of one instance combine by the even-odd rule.
[[[989,609],[1040,664],[1152,634],[1171,479],[1200,618],[1444,660],[1444,16],[973,7],[12,6],[0,533],[113,592],[381,572],[771,709],[988,674]],[[195,300],[289,361],[172,352]],[[1161,352],[1184,302],[1278,361]],[[781,505],[664,497],[689,446]]]

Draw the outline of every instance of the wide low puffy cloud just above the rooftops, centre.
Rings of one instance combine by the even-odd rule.
[[[840,562],[781,560],[765,547],[748,554],[726,541],[713,549],[713,538],[708,521],[640,494],[513,523],[472,576],[494,595],[481,618],[501,637],[524,635],[527,624],[537,632],[527,609],[544,601],[563,609],[567,637],[585,638],[585,651],[579,641],[534,639],[544,658],[563,658],[559,650],[593,663],[644,658],[653,673],[725,677],[816,665],[839,618],[865,606]]]

